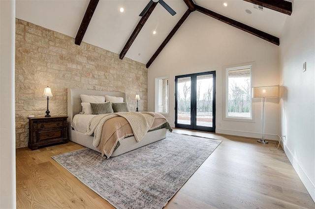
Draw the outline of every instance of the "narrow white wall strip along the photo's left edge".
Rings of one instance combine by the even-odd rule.
[[[0,209],[15,198],[15,1],[0,0]]]

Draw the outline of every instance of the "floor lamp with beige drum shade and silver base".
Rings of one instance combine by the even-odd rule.
[[[268,144],[265,140],[265,101],[266,98],[279,97],[279,86],[261,86],[252,88],[252,98],[261,98],[261,139],[257,140],[259,143]]]

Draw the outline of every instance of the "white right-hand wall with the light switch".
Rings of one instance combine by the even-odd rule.
[[[294,169],[315,200],[315,1],[295,0],[281,37],[281,134]],[[303,73],[303,63],[307,71]]]

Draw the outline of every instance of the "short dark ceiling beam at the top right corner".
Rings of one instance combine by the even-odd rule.
[[[292,14],[292,2],[286,0],[245,0],[287,15]]]

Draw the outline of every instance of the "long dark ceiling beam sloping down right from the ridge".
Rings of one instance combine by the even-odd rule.
[[[230,19],[228,17],[225,17],[225,16],[223,16],[221,14],[218,14],[216,12],[213,12],[213,11],[211,11],[209,9],[206,9],[206,8],[204,8],[202,6],[199,6],[199,5],[196,5],[196,4],[195,4],[195,9],[196,9],[196,11],[199,11],[199,12],[205,14],[205,15],[208,15],[208,16],[210,16],[212,18],[220,20],[223,23],[226,23],[226,24],[228,24],[230,26],[237,27],[237,28],[239,28],[241,30],[244,30],[244,31],[246,31],[248,33],[251,33],[252,35],[255,35],[255,36],[259,37],[259,38],[262,38],[262,39],[264,39],[266,41],[269,41],[270,43],[273,43],[273,44],[278,45],[278,46],[280,45],[280,40],[276,36],[270,35],[270,34],[268,34],[266,32],[263,32],[263,31],[258,30],[256,28],[253,28],[251,26],[247,26],[247,25],[245,25],[243,23],[240,23],[238,21],[232,20],[232,19]]]

